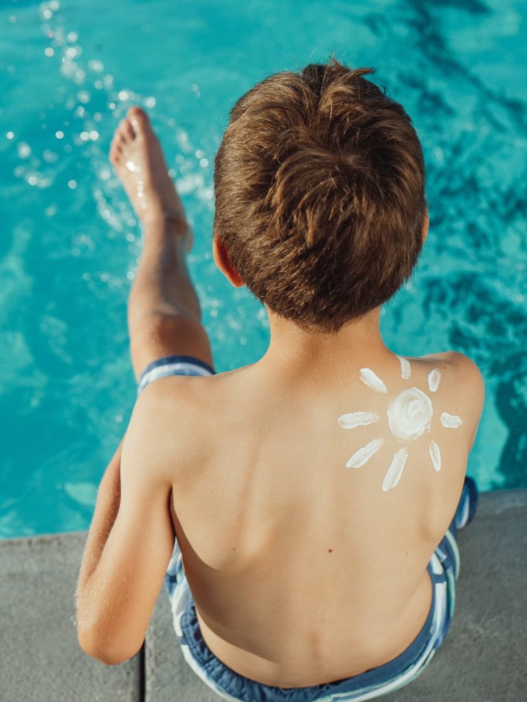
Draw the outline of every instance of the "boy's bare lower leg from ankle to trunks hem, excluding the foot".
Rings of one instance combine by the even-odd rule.
[[[191,232],[184,218],[143,223],[144,245],[128,303],[136,379],[155,360],[192,356],[214,366],[201,308],[186,263]]]

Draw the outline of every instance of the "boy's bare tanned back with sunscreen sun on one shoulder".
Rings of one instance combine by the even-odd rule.
[[[143,391],[166,437],[204,641],[240,675],[340,680],[395,658],[422,628],[483,382],[455,352],[407,360],[370,349],[313,372],[263,357]]]

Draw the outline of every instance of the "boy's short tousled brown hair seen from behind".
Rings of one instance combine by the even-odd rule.
[[[422,148],[373,72],[332,58],[266,78],[216,154],[214,236],[254,296],[308,331],[389,300],[422,249]]]

